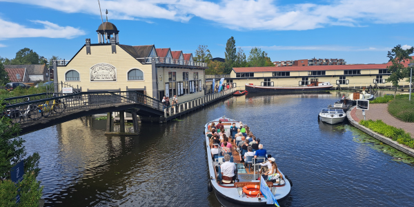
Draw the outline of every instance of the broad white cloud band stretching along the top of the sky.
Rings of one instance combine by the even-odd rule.
[[[26,3],[62,12],[99,15],[97,1],[0,0]],[[280,5],[276,0],[102,0],[110,19],[207,19],[231,29],[312,30],[326,26],[368,23],[413,23],[413,0],[333,0],[328,4]],[[105,17],[103,17],[105,18]]]

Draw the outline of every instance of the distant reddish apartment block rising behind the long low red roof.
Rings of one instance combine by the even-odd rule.
[[[275,66],[337,66],[345,65],[344,59],[299,59],[291,61],[274,61]]]

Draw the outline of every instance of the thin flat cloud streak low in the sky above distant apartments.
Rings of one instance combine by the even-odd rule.
[[[391,48],[357,48],[351,46],[242,46],[247,50],[251,48],[261,48],[262,50],[324,50],[324,51],[388,51]]]

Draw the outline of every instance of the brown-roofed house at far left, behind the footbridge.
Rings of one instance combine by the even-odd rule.
[[[17,69],[17,68],[23,68],[25,70],[25,77],[28,76],[28,79],[23,82],[35,82],[35,81],[48,81],[48,69],[46,65],[5,65],[5,69]],[[14,70],[6,70],[9,73],[9,77],[12,77],[14,75],[19,74],[21,77],[23,77],[23,74],[20,74],[21,72],[15,72]],[[12,74],[10,74],[10,72]],[[18,81],[20,82],[20,81]]]

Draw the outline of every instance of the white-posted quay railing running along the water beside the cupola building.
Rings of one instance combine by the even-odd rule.
[[[223,90],[221,92],[215,92],[210,95],[205,95],[203,97],[198,97],[195,99],[191,99],[189,101],[185,101],[183,103],[178,103],[172,106],[164,106],[164,117],[168,118],[174,115],[177,115],[181,112],[185,112],[186,110],[193,110],[193,108],[203,105],[204,103],[208,103],[210,101],[215,101],[216,99],[220,99],[222,97],[226,97],[228,95],[233,94],[239,90],[238,88],[229,88],[228,90]]]

